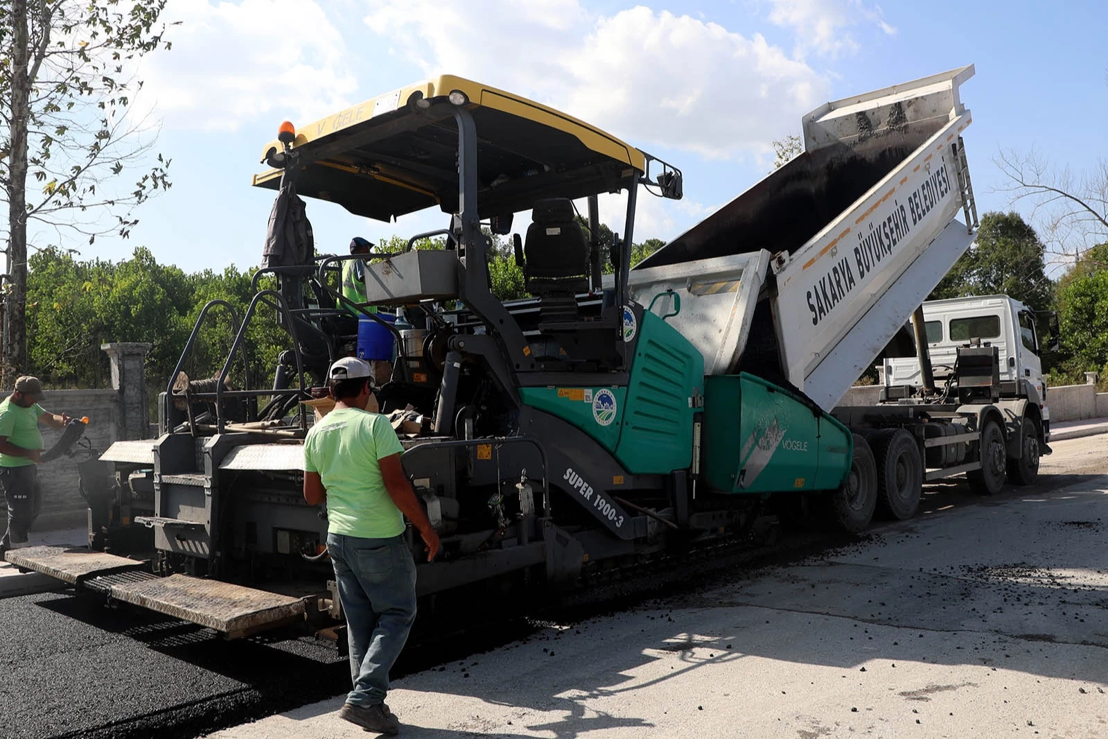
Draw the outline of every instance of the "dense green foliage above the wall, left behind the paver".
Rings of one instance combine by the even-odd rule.
[[[144,341],[152,391],[164,389],[188,335],[208,300],[230,302],[242,319],[254,292],[254,270],[234,266],[222,273],[186,274],[160,265],[145,248],[119,263],[79,260],[57,248],[31,256],[28,284],[30,371],[54,387],[105,387],[109,360],[101,351],[110,341]],[[254,378],[268,378],[288,338],[267,309],[259,309],[247,339]],[[223,308],[214,308],[185,366],[193,379],[218,372],[238,329]],[[245,382],[244,365],[233,365],[232,380]],[[255,380],[257,381],[257,380]]]

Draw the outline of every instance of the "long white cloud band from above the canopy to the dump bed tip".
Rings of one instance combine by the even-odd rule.
[[[760,34],[645,7],[591,17],[576,0],[369,6],[367,25],[425,74],[502,86],[635,144],[711,157],[762,152],[828,90]]]

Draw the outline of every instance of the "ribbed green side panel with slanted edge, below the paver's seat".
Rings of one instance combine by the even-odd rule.
[[[693,397],[704,387],[704,356],[664,319],[643,312],[616,459],[636,474],[667,474],[693,463]]]

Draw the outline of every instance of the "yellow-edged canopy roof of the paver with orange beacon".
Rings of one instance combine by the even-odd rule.
[[[378,95],[297,126],[297,192],[351,213],[390,220],[433,205],[458,205],[458,129],[451,93],[464,95],[478,133],[482,217],[544,197],[583,197],[627,186],[646,167],[639,150],[546,105],[458,76]],[[455,95],[456,99],[456,95]],[[276,140],[266,145],[263,158]],[[254,176],[276,188],[280,171]]]

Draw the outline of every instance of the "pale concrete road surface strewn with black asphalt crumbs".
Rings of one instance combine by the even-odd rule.
[[[1108,736],[1108,437],[1054,448],[1029,492],[936,486],[847,548],[397,680],[401,736]],[[366,736],[341,700],[213,737]]]

